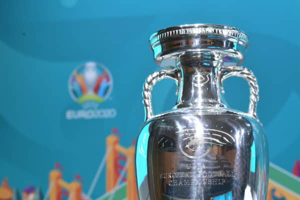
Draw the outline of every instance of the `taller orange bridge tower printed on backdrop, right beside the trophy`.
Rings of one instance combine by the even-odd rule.
[[[119,169],[123,169],[123,166],[119,164],[119,160],[122,159],[125,162],[128,162],[126,178],[122,177],[123,181],[127,181],[127,199],[137,200],[134,164],[135,147],[122,147],[119,145],[118,137],[114,134],[111,134],[106,138],[106,149],[110,149],[106,161],[106,192],[114,189],[117,184],[117,180],[120,175]],[[124,154],[125,156],[119,155],[120,153]]]

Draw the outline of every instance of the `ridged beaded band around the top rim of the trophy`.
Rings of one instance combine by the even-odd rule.
[[[185,24],[158,30],[149,37],[149,42],[152,46],[159,40],[172,39],[172,37],[184,35],[216,35],[239,40],[245,46],[248,44],[247,35],[238,28],[204,23]]]

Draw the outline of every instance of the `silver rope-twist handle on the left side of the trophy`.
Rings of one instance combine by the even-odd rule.
[[[179,91],[179,77],[180,77],[180,73],[178,72],[178,69],[174,69],[171,71],[168,70],[154,71],[153,73],[147,76],[142,91],[143,104],[145,106],[145,121],[153,116],[152,93],[151,93],[153,86],[158,81],[164,78],[173,79],[176,81],[177,84],[177,90],[176,90],[176,95],[177,95]]]

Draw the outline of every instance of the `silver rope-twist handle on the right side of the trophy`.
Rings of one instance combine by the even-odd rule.
[[[230,76],[238,76],[242,77],[245,79],[250,87],[250,103],[249,103],[249,110],[248,113],[249,115],[253,116],[255,119],[258,120],[257,114],[256,114],[256,106],[257,106],[257,101],[259,99],[258,92],[258,84],[255,75],[253,72],[246,67],[243,66],[229,66],[229,67],[222,67],[221,68],[221,78],[220,78],[220,86],[221,86],[221,91],[224,93],[224,88],[223,88],[223,81],[230,77]]]

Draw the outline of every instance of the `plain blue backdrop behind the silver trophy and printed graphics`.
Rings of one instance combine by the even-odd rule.
[[[7,176],[20,189],[45,190],[48,172],[59,162],[65,179],[82,176],[86,192],[111,128],[129,146],[143,122],[142,84],[159,69],[148,36],[185,23],[231,25],[249,36],[243,65],[260,86],[258,117],[270,160],[291,172],[300,158],[299,8],[298,0],[0,1],[0,179]],[[83,109],[71,98],[68,79],[87,61],[100,62],[111,73],[112,91],[98,108],[114,108],[114,118],[65,116],[69,109]],[[155,113],[172,107],[175,89],[170,80],[155,86]],[[225,91],[231,107],[247,110],[244,80],[226,80]],[[105,173],[100,180],[93,197],[105,192]]]

